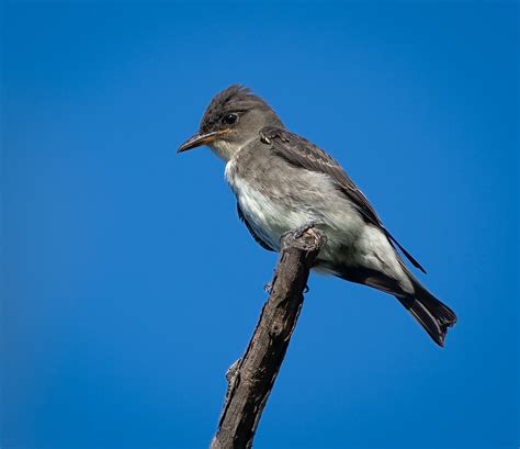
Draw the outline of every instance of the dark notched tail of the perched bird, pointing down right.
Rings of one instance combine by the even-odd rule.
[[[426,290],[419,281],[414,277],[410,278],[415,289],[414,295],[396,298],[419,322],[433,341],[439,346],[444,346],[448,328],[456,323],[456,315],[448,305]]]

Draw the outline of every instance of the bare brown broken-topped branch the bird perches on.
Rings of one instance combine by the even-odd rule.
[[[316,228],[287,233],[271,294],[242,358],[226,373],[228,388],[211,449],[250,448],[303,304],[309,269],[325,236]]]

